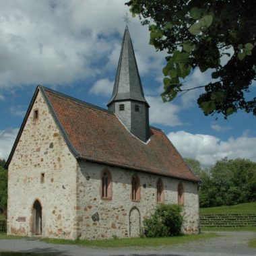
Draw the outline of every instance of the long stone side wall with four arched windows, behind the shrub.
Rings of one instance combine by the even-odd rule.
[[[160,176],[137,172],[140,181],[141,199],[131,201],[132,170],[104,166],[90,162],[79,163],[77,235],[81,238],[125,238],[139,236],[143,218],[150,216],[156,207],[156,183]],[[100,174],[104,168],[110,171],[113,181],[111,200],[101,198]],[[185,206],[183,229],[186,233],[199,232],[199,203],[197,183],[161,177],[164,183],[164,202],[177,203],[177,187],[183,183]]]

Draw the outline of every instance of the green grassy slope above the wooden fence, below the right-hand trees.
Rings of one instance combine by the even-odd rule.
[[[256,214],[256,202],[232,206],[200,208],[201,214]]]

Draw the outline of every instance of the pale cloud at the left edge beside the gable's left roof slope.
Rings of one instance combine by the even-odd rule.
[[[0,130],[0,158],[7,160],[19,129]]]

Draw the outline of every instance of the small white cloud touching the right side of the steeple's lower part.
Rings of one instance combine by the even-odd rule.
[[[148,104],[150,104],[150,123],[167,125],[169,127],[182,125],[178,117],[178,106],[170,102],[162,102],[160,96],[147,96],[146,100],[148,101]]]

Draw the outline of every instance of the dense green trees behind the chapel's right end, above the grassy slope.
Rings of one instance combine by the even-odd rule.
[[[256,200],[256,163],[224,158],[201,172],[200,206],[234,205]]]

